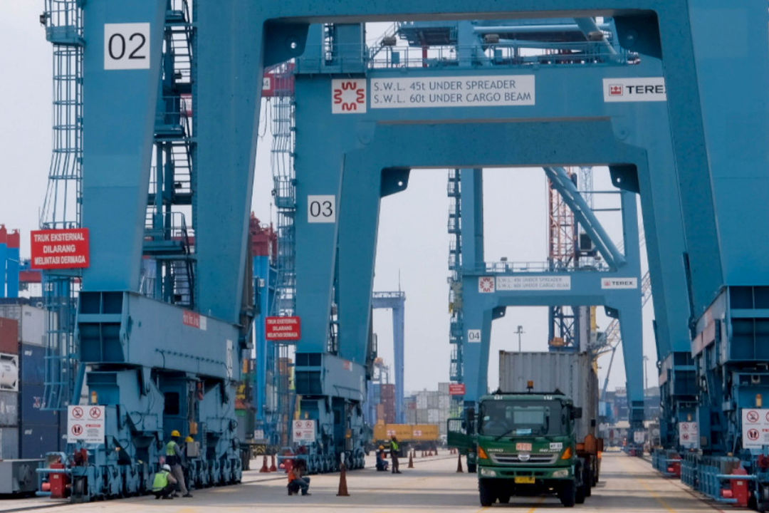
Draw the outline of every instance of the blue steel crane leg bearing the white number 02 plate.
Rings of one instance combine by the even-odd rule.
[[[165,3],[92,0],[85,5],[83,225],[90,230],[92,258],[98,255],[110,265],[85,269],[84,290],[138,288]],[[147,22],[150,67],[105,69],[105,24]]]

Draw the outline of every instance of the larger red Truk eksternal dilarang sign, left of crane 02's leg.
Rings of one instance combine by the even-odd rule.
[[[38,230],[30,235],[33,269],[88,267],[88,228]]]

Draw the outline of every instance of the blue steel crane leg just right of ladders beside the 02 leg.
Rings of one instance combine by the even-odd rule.
[[[165,3],[165,2],[161,2]],[[195,276],[198,308],[237,323],[254,178],[264,27],[261,2],[196,2],[200,72],[195,112]],[[215,141],[215,144],[210,142]]]

